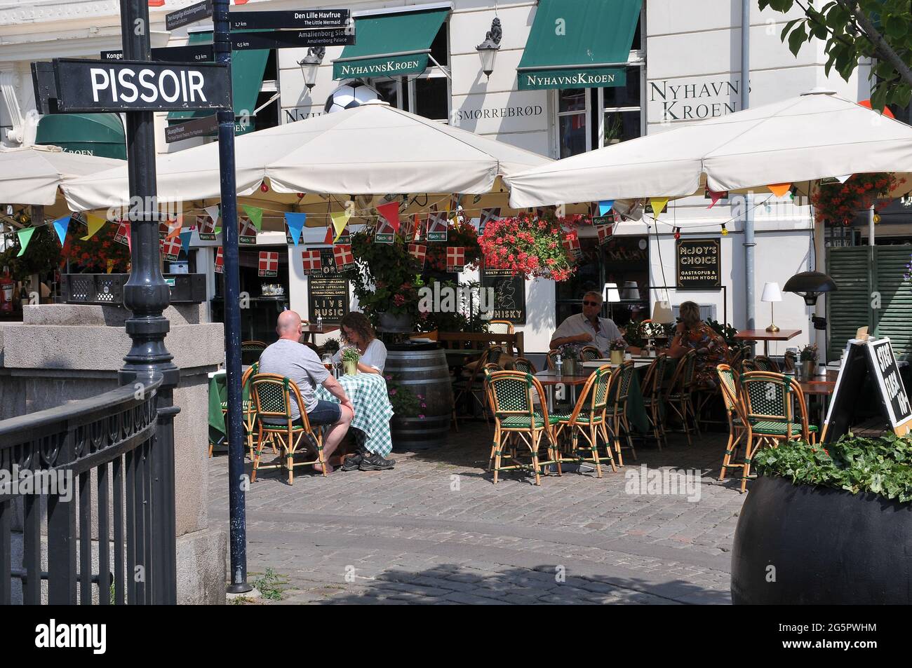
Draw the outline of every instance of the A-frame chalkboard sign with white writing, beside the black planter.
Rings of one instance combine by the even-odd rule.
[[[874,380],[867,387],[874,387],[880,395],[884,415],[897,436],[903,436],[912,427],[912,406],[906,387],[899,376],[899,365],[890,340],[852,339],[845,347],[843,365],[836,378],[833,398],[826,414],[822,440],[833,442],[853,426],[855,408],[862,405],[865,378]]]

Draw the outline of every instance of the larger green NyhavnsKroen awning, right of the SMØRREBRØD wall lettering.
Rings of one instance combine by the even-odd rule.
[[[626,86],[642,0],[541,0],[516,68],[520,90]]]

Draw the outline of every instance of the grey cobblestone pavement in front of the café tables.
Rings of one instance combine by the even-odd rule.
[[[669,436],[617,473],[565,472],[540,488],[509,472],[492,484],[491,437],[466,423],[443,447],[394,454],[394,470],[300,468],[292,487],[262,473],[247,493],[250,580],[283,603],[730,602],[744,497],[717,479],[724,435],[693,447]],[[643,464],[698,469],[700,499],[627,493]],[[210,521],[227,527],[227,457],[210,465]]]

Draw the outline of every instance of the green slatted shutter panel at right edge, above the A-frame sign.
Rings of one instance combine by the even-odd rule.
[[[912,284],[904,278],[910,253],[912,246],[875,248],[874,289],[880,293],[875,332],[889,336],[897,356],[912,354]]]

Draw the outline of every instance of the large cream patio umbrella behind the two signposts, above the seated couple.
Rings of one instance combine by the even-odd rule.
[[[239,195],[264,181],[275,193],[380,195],[489,193],[498,177],[552,160],[384,103],[253,132],[236,140]],[[218,145],[182,150],[156,160],[160,200],[220,197]],[[73,211],[123,206],[126,168],[64,186]],[[277,197],[277,201],[288,200]]]

